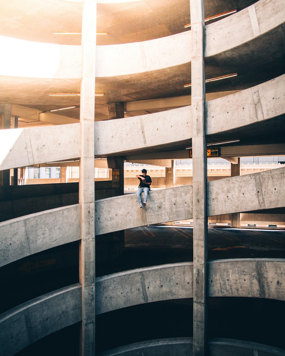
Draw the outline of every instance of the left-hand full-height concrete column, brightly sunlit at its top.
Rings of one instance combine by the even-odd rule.
[[[79,281],[82,285],[81,355],[95,355],[95,192],[94,106],[97,1],[84,0],[82,15],[83,68],[80,97],[81,158],[79,162]]]

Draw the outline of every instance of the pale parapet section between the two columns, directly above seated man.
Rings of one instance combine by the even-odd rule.
[[[94,125],[94,155],[117,153],[118,142],[120,151],[128,152],[185,141],[191,137],[191,106],[144,116],[99,121]]]

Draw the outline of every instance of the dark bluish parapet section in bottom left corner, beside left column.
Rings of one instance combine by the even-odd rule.
[[[0,315],[0,354],[14,355],[81,318],[79,283],[30,300]]]

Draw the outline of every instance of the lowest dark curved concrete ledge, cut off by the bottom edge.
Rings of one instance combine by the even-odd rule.
[[[192,356],[192,337],[157,339],[117,347],[98,356]],[[284,356],[285,350],[256,342],[214,338],[208,341],[209,356]]]

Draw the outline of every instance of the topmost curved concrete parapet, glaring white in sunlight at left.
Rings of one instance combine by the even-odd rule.
[[[247,9],[207,25],[205,57],[240,46],[281,25],[284,22],[284,11],[284,1],[260,0]],[[190,37],[191,31],[186,31],[150,41],[97,46],[96,77],[142,73],[191,62],[191,46],[185,45],[191,42]],[[2,43],[2,47],[5,47],[4,45],[5,43]],[[6,46],[11,47],[9,38]],[[22,68],[19,67],[19,63],[16,67],[12,66],[13,72],[8,75],[36,78],[81,77],[81,46],[49,43],[30,43],[30,46],[35,47],[35,53],[53,53],[48,57],[46,66],[38,67],[31,55]],[[31,51],[32,48],[29,52],[32,53]],[[4,59],[2,58],[2,61]],[[0,68],[3,70],[5,68],[5,73],[0,72],[0,74],[7,75],[7,64],[9,63],[2,63]],[[16,74],[15,68],[18,68]]]

